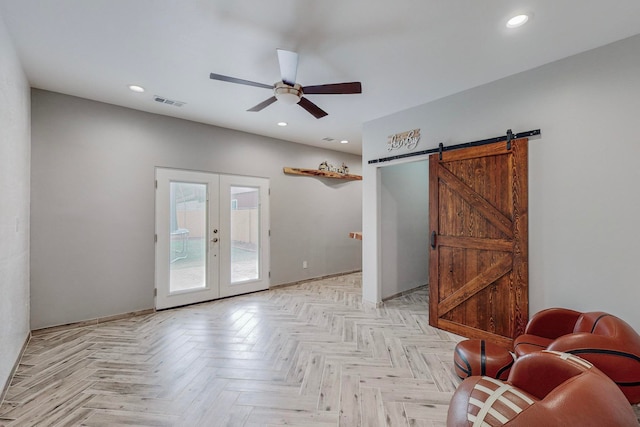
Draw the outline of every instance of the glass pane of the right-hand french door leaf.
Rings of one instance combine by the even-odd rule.
[[[259,279],[260,189],[230,187],[231,283]]]

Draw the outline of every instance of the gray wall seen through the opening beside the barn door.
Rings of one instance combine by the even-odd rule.
[[[407,163],[380,172],[384,299],[429,281],[429,164]]]

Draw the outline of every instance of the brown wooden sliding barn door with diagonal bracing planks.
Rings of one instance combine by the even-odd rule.
[[[429,158],[429,323],[511,347],[528,316],[527,142]]]

